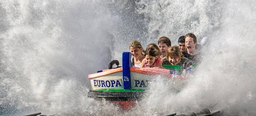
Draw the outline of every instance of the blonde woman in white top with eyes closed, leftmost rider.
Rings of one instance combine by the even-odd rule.
[[[145,50],[143,49],[141,43],[138,40],[133,40],[130,43],[130,51],[132,53],[132,64],[135,67],[140,67],[142,60],[145,58],[144,53]]]

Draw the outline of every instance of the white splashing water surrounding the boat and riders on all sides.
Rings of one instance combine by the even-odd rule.
[[[204,107],[255,115],[255,1],[0,1],[0,115],[166,115]],[[131,111],[87,98],[88,74],[138,39],[193,32],[211,44],[178,94],[159,77]]]

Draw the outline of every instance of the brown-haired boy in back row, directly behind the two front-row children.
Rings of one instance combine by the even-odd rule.
[[[162,52],[160,58],[163,59],[167,54],[167,49],[172,46],[172,42],[168,37],[160,37],[157,43]]]

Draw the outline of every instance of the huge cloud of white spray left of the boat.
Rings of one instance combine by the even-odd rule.
[[[1,115],[76,112],[94,104],[86,78],[111,60],[118,21],[107,4],[1,2]]]

